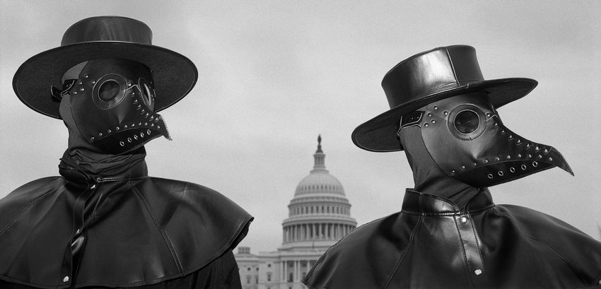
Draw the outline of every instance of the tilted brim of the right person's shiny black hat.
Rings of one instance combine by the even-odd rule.
[[[414,98],[414,100],[397,105],[387,112],[357,126],[351,134],[351,138],[356,146],[366,151],[402,151],[403,148],[399,143],[397,130],[399,129],[401,116],[404,114],[413,112],[437,100],[477,91],[486,92],[491,98],[494,107],[498,108],[509,102],[523,98],[536,85],[537,81],[530,78],[501,78],[464,84],[443,92]]]

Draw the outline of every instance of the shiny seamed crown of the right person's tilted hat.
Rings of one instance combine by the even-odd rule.
[[[382,87],[390,108],[412,100],[484,81],[476,49],[468,45],[437,47],[416,54],[390,69]]]

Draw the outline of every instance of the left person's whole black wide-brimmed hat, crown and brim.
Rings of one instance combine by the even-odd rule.
[[[19,67],[13,89],[28,107],[60,119],[59,104],[50,86],[62,86],[63,74],[83,61],[122,58],[151,69],[156,91],[155,112],[180,101],[198,79],[196,66],[187,57],[152,45],[152,31],[139,20],[120,16],[86,18],[71,25],[61,46],[31,57]]]

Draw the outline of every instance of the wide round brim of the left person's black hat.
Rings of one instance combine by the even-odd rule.
[[[155,112],[180,101],[198,79],[196,66],[187,57],[163,47],[130,42],[84,42],[47,50],[25,61],[13,78],[17,97],[36,112],[60,119],[50,85],[60,87],[63,73],[83,61],[122,58],[151,69],[155,83]]]

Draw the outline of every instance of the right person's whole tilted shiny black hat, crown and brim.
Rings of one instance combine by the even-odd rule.
[[[404,114],[437,100],[477,91],[487,93],[498,108],[523,98],[536,85],[530,78],[486,81],[474,47],[437,47],[401,61],[386,73],[382,87],[390,110],[357,126],[351,138],[366,151],[402,151],[397,131]]]

